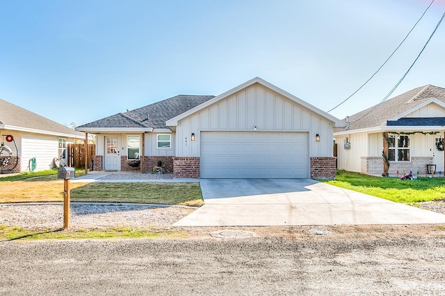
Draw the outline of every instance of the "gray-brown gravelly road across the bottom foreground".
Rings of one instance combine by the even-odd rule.
[[[445,237],[0,243],[0,295],[444,295]]]

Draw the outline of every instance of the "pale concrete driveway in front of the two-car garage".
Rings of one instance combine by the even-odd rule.
[[[445,223],[445,215],[310,179],[202,179],[204,206],[174,226]]]

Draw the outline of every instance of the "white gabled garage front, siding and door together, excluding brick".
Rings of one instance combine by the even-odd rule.
[[[181,119],[176,155],[200,157],[202,177],[218,170],[232,177],[309,177],[309,157],[332,157],[332,135],[323,116],[254,84]],[[289,160],[296,158],[304,161]]]

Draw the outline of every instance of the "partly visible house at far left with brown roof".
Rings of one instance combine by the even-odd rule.
[[[85,139],[85,134],[0,99],[0,141],[10,148],[10,154],[9,149],[1,152],[1,173],[52,168],[74,139]]]

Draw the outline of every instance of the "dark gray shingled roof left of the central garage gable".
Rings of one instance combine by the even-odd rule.
[[[79,125],[82,128],[167,128],[165,121],[209,101],[215,96],[180,94],[144,107],[114,114],[97,121]]]

